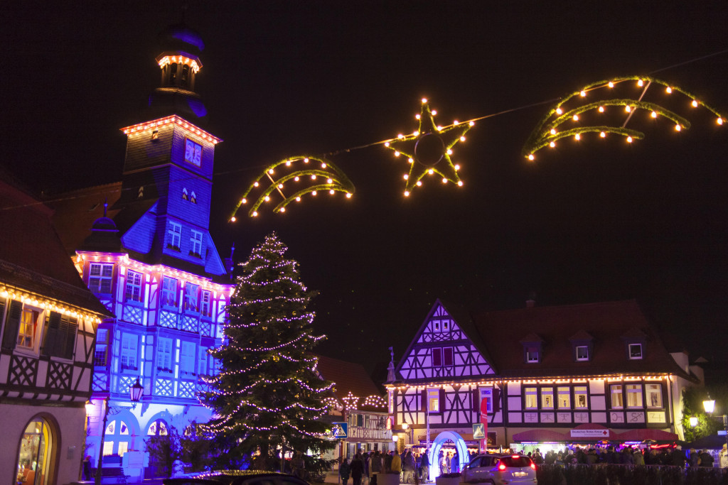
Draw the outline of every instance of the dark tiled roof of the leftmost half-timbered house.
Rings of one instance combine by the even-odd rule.
[[[84,285],[51,216],[33,196],[0,180],[0,281],[110,316]]]

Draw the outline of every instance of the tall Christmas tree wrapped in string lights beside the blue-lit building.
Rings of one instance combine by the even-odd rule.
[[[318,471],[328,465],[320,453],[334,446],[321,420],[332,384],[320,379],[312,355],[325,336],[312,334],[314,313],[306,310],[316,293],[299,281],[287,249],[273,233],[240,265],[223,344],[211,351],[219,372],[205,378],[210,390],[200,397],[213,419],[202,430],[226,468],[252,461],[277,469],[283,450],[311,452],[306,469]]]

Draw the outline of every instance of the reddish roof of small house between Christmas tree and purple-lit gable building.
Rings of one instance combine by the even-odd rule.
[[[342,401],[343,398],[352,393],[353,396],[360,398],[360,404],[368,396],[384,396],[384,393],[374,384],[369,374],[361,364],[353,362],[341,361],[338,358],[318,357],[317,370],[325,379],[334,383],[333,395],[336,399]],[[384,409],[375,406],[357,406],[357,409],[372,410],[382,412]]]

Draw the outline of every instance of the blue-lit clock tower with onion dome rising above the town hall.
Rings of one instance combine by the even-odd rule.
[[[114,209],[133,221],[122,245],[150,264],[220,276],[226,268],[210,238],[210,196],[215,145],[206,132],[207,110],[194,91],[205,48],[182,24],[159,34],[159,87],[149,97],[149,118],[122,129],[127,135],[122,195]]]

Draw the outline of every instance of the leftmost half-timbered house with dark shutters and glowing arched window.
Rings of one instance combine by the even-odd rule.
[[[55,233],[52,211],[0,180],[0,480],[79,479],[93,342],[111,315]]]

